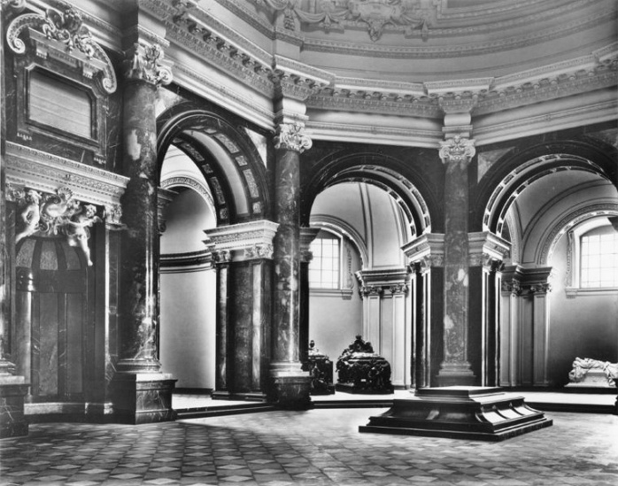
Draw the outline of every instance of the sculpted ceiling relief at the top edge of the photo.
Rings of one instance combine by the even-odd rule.
[[[297,30],[297,22],[320,27],[325,32],[344,27],[364,26],[376,42],[385,27],[398,27],[410,37],[418,31],[423,40],[429,36],[429,17],[434,9],[429,0],[253,0],[272,12],[282,12],[283,27]]]

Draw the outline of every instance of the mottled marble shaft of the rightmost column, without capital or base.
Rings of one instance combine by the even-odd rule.
[[[467,359],[467,159],[448,160],[444,179],[444,365]],[[443,365],[443,366],[444,366]]]

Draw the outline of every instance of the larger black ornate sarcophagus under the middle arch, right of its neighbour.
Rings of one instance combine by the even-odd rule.
[[[337,391],[348,393],[393,393],[390,363],[374,352],[371,343],[361,336],[344,349],[337,359]]]

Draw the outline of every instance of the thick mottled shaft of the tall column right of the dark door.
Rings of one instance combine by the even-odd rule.
[[[130,181],[122,198],[127,231],[121,260],[120,359],[137,370],[158,370],[156,86],[127,82],[124,96],[123,163]]]

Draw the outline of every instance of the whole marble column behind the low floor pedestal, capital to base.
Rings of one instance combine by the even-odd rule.
[[[474,140],[455,135],[442,143],[444,174],[444,360],[440,386],[476,382],[467,357],[468,262],[467,167],[475,155]]]

